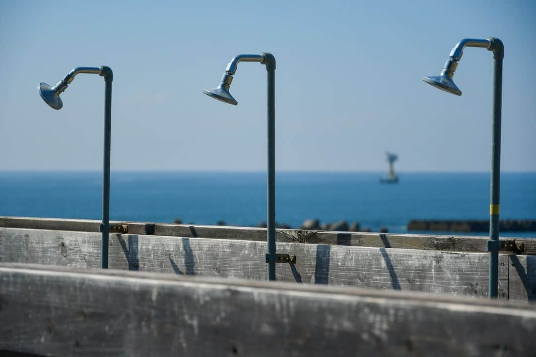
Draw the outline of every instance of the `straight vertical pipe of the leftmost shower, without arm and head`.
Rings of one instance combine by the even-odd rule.
[[[110,231],[111,75],[105,77],[105,83],[104,167],[102,177],[102,269],[108,268],[108,236]]]

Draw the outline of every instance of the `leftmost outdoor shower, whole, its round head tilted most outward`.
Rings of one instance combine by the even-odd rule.
[[[59,81],[54,87],[47,83],[40,83],[38,86],[39,94],[43,101],[53,109],[61,109],[63,102],[59,95],[67,89],[69,83],[75,79],[79,73],[99,74],[104,77],[105,88],[105,110],[104,110],[104,171],[102,179],[102,223],[100,231],[102,232],[102,259],[101,267],[108,268],[108,235],[110,231],[110,130],[111,130],[111,82],[113,73],[110,67],[76,67],[69,72],[64,79]]]

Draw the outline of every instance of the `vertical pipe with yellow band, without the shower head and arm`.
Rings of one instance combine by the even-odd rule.
[[[500,44],[502,48],[502,43]],[[499,194],[501,179],[501,107],[503,51],[494,51],[492,172],[489,206],[489,298],[497,298],[499,249]]]

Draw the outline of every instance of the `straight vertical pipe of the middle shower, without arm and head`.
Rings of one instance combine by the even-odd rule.
[[[276,69],[267,66],[268,81],[268,173],[267,228],[268,253],[276,254]],[[276,280],[276,263],[268,263],[268,280]]]

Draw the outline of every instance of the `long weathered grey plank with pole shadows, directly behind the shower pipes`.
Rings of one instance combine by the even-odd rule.
[[[296,264],[277,264],[277,279],[483,297],[488,255],[396,248],[278,243]],[[112,269],[265,280],[266,243],[113,234]],[[0,229],[0,261],[100,267],[100,234]],[[499,294],[508,299],[508,257],[500,257]]]

